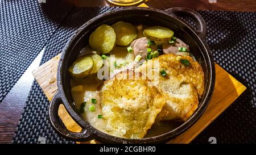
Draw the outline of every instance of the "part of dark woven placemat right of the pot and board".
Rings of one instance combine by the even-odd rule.
[[[246,91],[193,143],[256,143],[256,12],[199,11],[208,26],[214,61],[247,87]]]

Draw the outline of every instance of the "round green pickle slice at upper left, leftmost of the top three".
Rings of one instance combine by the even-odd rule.
[[[94,51],[109,53],[115,45],[115,31],[111,26],[103,24],[90,34],[89,44]]]

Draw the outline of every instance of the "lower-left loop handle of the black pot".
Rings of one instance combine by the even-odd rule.
[[[62,104],[62,100],[60,98],[59,93],[57,92],[50,104],[49,104],[49,121],[55,129],[56,132],[60,133],[65,139],[72,140],[72,141],[88,141],[92,140],[92,134],[87,129],[82,129],[82,132],[76,133],[69,131],[67,127],[65,127],[64,123],[60,119],[58,115],[59,106]]]

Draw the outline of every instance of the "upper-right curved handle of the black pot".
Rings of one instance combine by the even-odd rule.
[[[179,18],[179,16],[180,17],[188,16],[189,18],[193,19],[197,24],[197,30],[195,30],[197,35],[199,35],[199,37],[201,37],[201,39],[205,39],[205,37],[207,35],[207,25],[206,25],[203,17],[199,13],[197,13],[196,11],[193,11],[191,9],[184,8],[184,7],[173,7],[171,9],[167,9],[164,11],[171,13],[172,15],[176,16],[177,18]]]

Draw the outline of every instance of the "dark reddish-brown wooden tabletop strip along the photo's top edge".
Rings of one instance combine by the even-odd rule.
[[[97,7],[97,6],[114,6],[105,0],[63,0],[77,7]],[[217,11],[256,11],[255,0],[216,0],[216,3],[209,0],[148,0],[146,3],[149,7],[158,9],[168,9],[170,7],[188,7],[197,10],[217,10]]]

